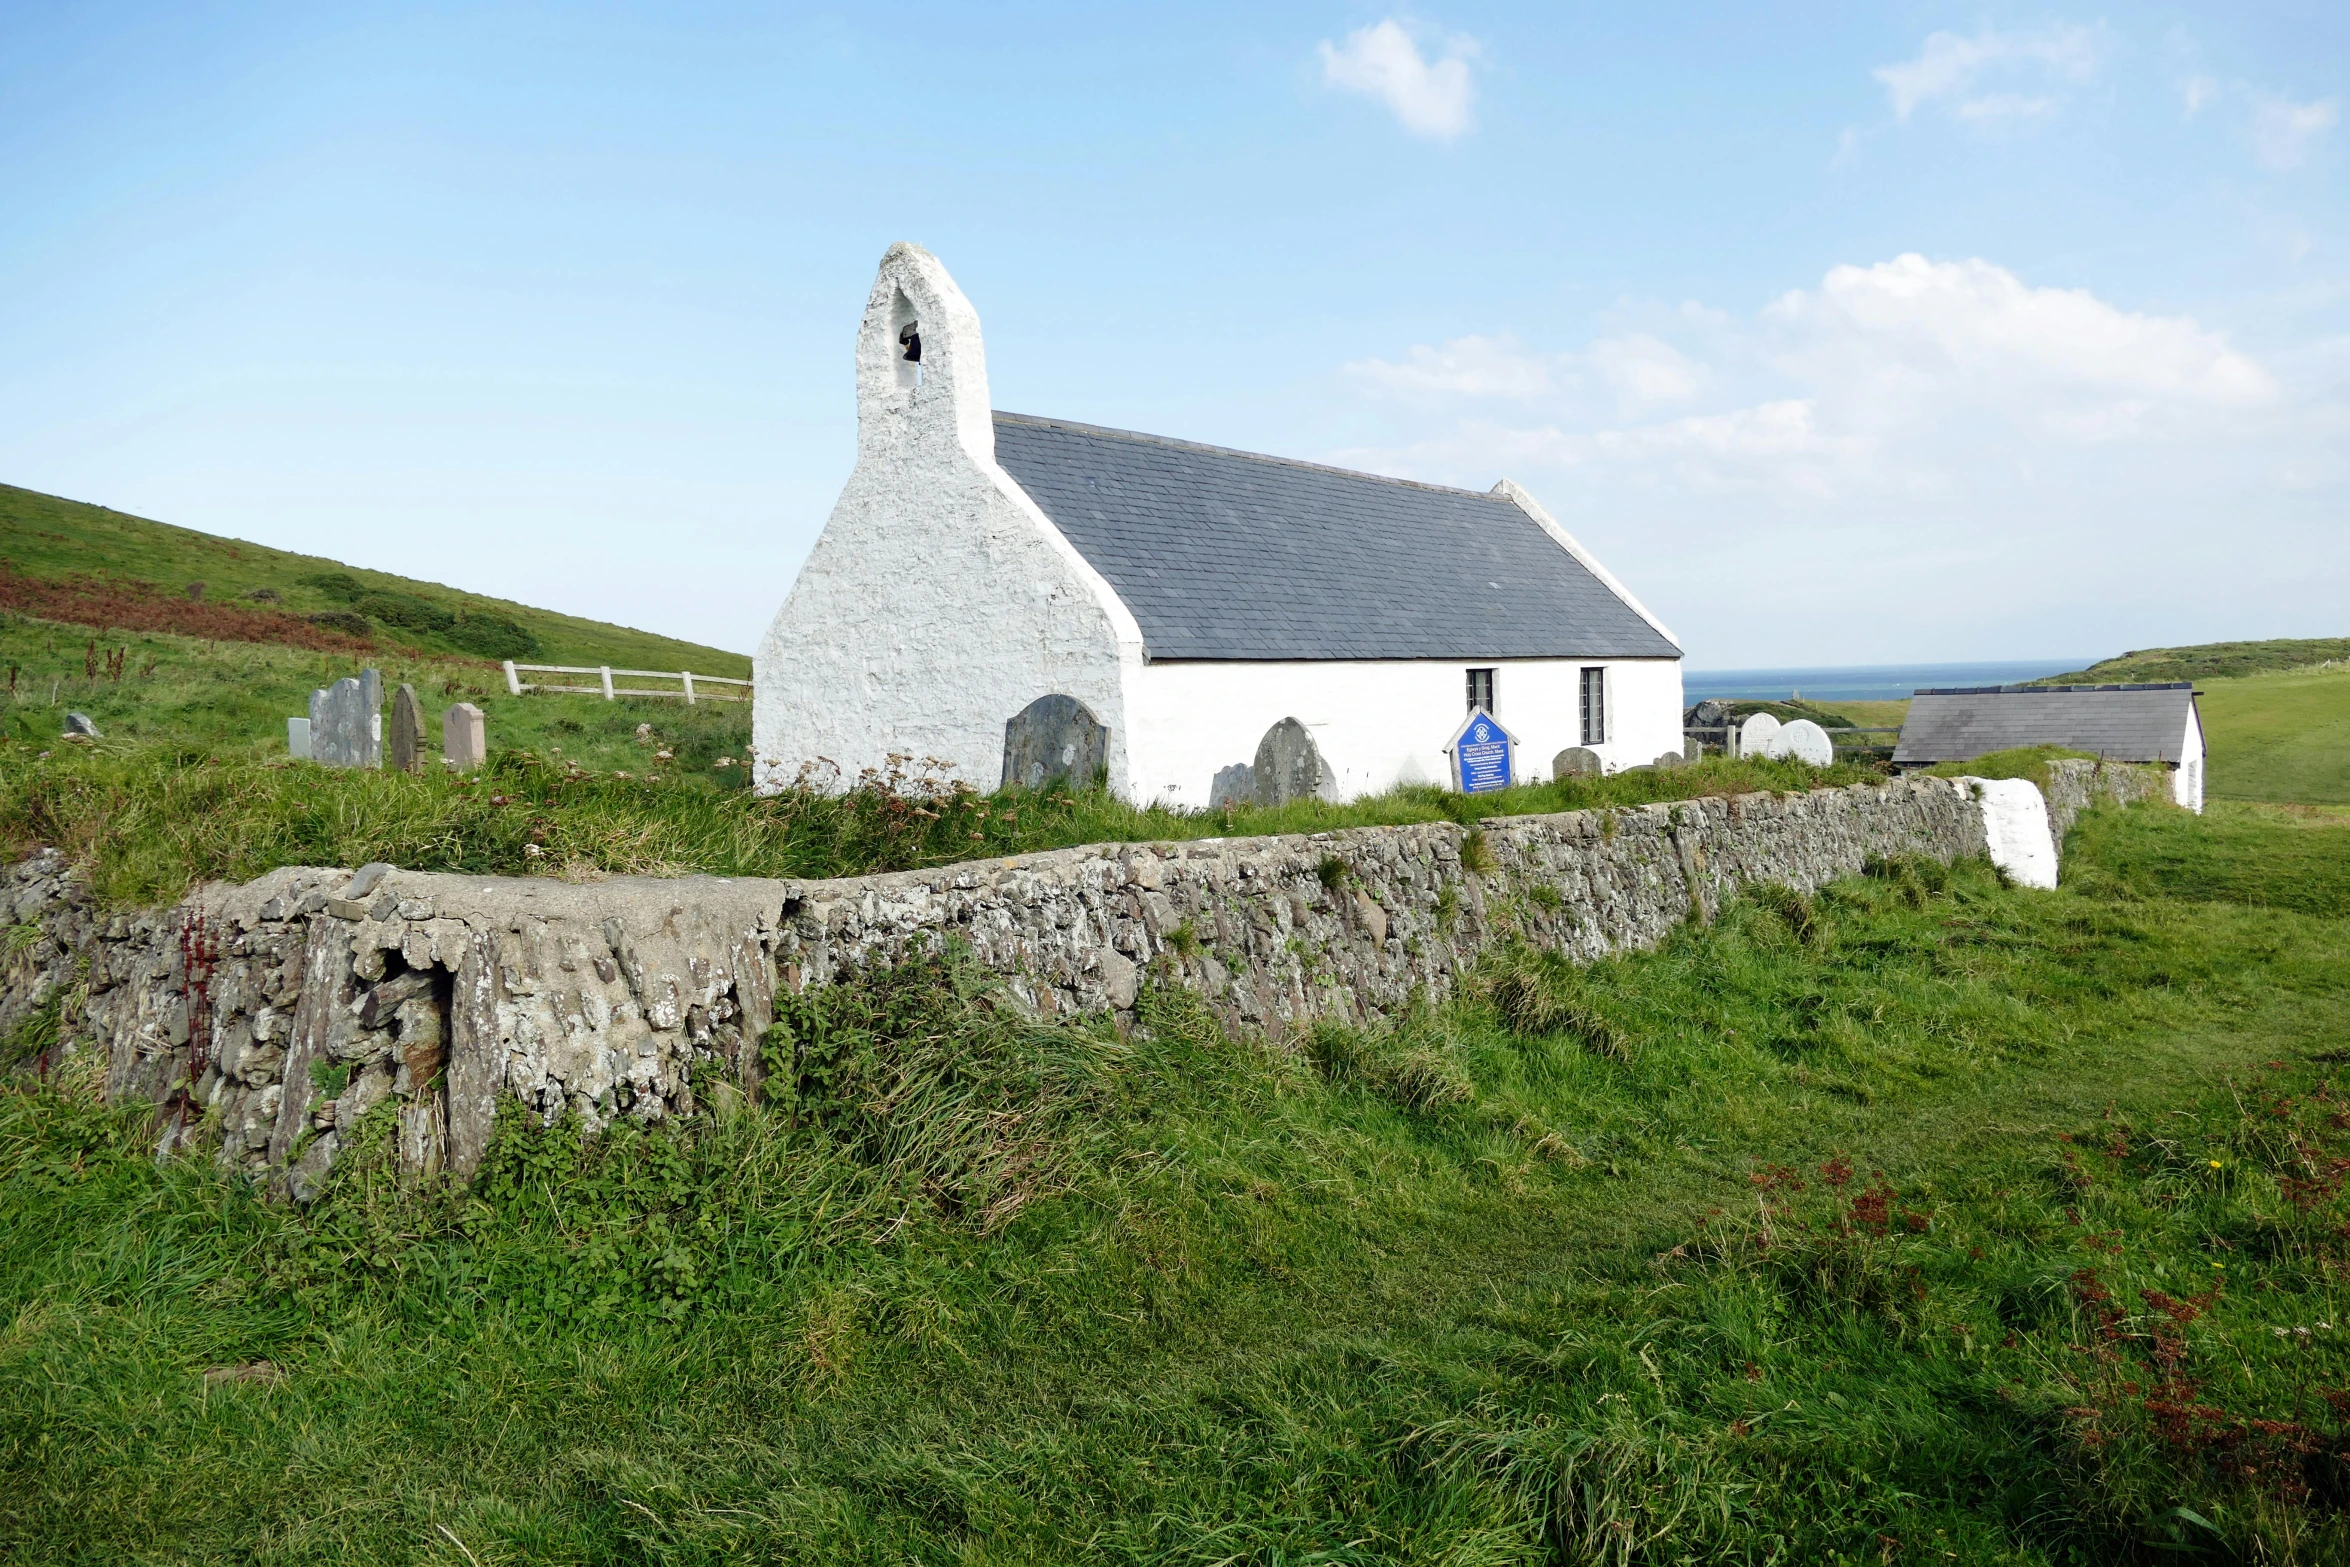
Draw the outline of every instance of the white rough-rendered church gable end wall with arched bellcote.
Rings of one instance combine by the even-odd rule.
[[[921,366],[898,331],[916,322]],[[893,244],[858,327],[858,465],[752,658],[761,792],[822,756],[837,785],[893,752],[973,787],[1003,771],[1003,724],[1062,691],[1109,726],[1126,775],[1133,616],[996,468],[980,317],[928,251]]]

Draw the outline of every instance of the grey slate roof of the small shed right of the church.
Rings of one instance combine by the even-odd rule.
[[[2063,745],[2108,761],[2178,761],[2193,712],[2193,681],[1920,691],[1901,724],[1894,766],[1974,761],[2021,745]]]

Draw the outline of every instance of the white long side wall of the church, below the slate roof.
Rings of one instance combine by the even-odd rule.
[[[1311,731],[1340,799],[1443,785],[1471,667],[1495,670],[1495,717],[1518,735],[1520,780],[1546,782],[1551,759],[1582,745],[1584,667],[1607,670],[1607,742],[1593,749],[1610,773],[1680,749],[1676,658],[1154,663],[1128,672],[1130,799],[1206,806],[1217,768],[1253,761],[1281,719]]]

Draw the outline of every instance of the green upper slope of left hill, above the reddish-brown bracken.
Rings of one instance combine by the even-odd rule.
[[[42,496],[0,484],[0,559],[28,578],[125,578],[183,597],[204,585],[212,604],[242,601],[294,616],[357,616],[357,634],[449,658],[522,658],[552,665],[620,665],[632,670],[693,670],[750,677],[750,658],[674,637],[557,616],[529,604],[418,583],[385,571],[362,571],[322,554],[291,554],[195,529],[148,522],[101,505]],[[261,597],[254,594],[275,594]],[[468,637],[449,625],[456,613],[477,623],[512,623],[536,653],[491,637]],[[479,625],[475,627],[479,630]]]

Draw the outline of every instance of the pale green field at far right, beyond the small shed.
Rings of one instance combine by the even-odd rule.
[[[2350,670],[2202,686],[2209,799],[2350,806]]]

